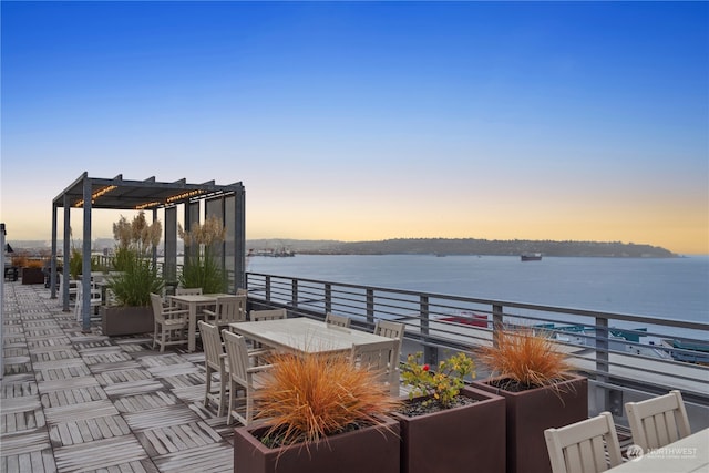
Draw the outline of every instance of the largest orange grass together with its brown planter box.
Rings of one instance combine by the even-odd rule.
[[[399,400],[349,357],[275,354],[256,426],[235,429],[237,473],[399,472]]]

